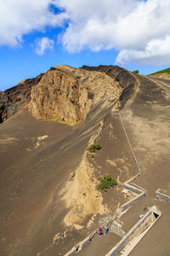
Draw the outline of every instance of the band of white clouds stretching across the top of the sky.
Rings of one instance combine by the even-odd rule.
[[[62,12],[50,11],[50,4]],[[119,65],[169,64],[169,14],[169,0],[5,0],[0,44],[14,45],[25,33],[67,22],[60,42],[71,53],[117,49]]]

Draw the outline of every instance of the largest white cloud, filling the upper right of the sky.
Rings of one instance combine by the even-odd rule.
[[[116,48],[117,64],[169,64],[169,0],[56,0],[70,18],[65,49]]]

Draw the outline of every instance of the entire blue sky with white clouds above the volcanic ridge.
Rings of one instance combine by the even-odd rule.
[[[0,0],[0,90],[66,64],[170,67],[170,0]]]

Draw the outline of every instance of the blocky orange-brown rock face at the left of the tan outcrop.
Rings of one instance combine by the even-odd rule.
[[[61,119],[77,122],[86,118],[91,94],[71,74],[57,69],[46,73],[31,90],[29,112],[38,119]]]

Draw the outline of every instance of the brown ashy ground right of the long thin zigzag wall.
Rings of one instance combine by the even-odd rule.
[[[152,76],[149,77],[150,79],[138,77],[139,90],[121,115],[142,172],[135,183],[146,189],[147,195],[123,214],[120,221],[123,230],[127,232],[138,222],[139,215],[144,214],[144,206],[155,205],[162,213],[161,218],[129,255],[169,255],[170,205],[167,202],[156,201],[155,193],[161,188],[162,193],[170,195],[170,82]],[[115,118],[116,113],[112,120]],[[117,123],[119,121],[117,117]],[[124,132],[120,131],[119,136],[122,140]],[[120,147],[124,149],[124,146]],[[120,240],[121,238],[118,241]],[[107,239],[105,236],[96,237],[78,255],[91,255],[93,252],[94,256],[103,256],[109,253],[116,243],[117,236],[113,234],[107,236]]]

